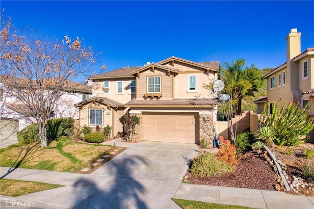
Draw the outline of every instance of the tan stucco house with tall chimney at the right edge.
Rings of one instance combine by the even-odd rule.
[[[282,100],[282,105],[295,100],[306,108],[314,96],[314,48],[301,53],[301,33],[296,28],[291,29],[286,39],[287,62],[263,76],[267,79],[267,98],[254,102],[258,113],[267,101],[272,111],[278,99]],[[314,115],[314,109],[310,114]]]

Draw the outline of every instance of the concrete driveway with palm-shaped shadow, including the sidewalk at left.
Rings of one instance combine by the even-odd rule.
[[[66,185],[19,197],[32,207],[180,209],[171,198],[197,145],[147,141],[128,145],[127,150],[90,175],[18,169],[6,178]],[[5,172],[1,170],[1,174]]]

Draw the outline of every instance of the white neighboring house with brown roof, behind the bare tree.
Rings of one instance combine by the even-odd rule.
[[[92,87],[78,82],[67,81],[60,99],[56,102],[51,118],[78,119],[78,109],[74,104],[89,99]],[[16,131],[36,122],[25,105],[16,97],[7,96],[5,86],[0,83],[0,139],[5,139]]]

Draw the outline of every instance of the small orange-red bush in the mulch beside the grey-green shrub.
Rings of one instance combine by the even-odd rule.
[[[225,140],[224,145],[220,146],[217,158],[220,161],[227,162],[231,166],[236,164],[236,149],[230,140]]]

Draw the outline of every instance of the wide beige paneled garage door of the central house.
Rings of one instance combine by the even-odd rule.
[[[197,117],[195,113],[144,112],[143,140],[198,144]]]

